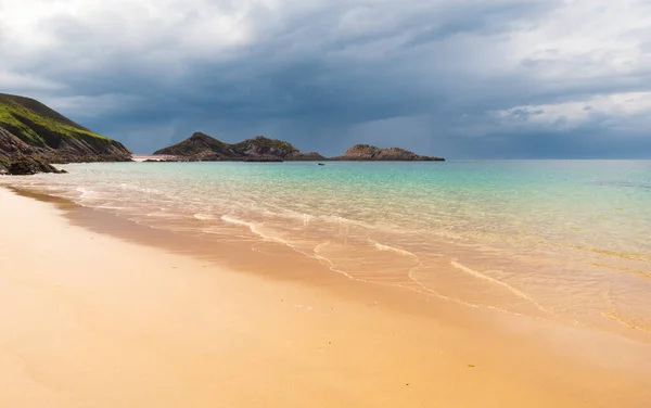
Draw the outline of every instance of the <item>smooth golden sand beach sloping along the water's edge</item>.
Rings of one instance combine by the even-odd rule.
[[[2,407],[651,406],[649,344],[51,201],[0,189]]]

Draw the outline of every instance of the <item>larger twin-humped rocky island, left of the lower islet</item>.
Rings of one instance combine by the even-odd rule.
[[[161,149],[154,155],[173,155],[188,161],[299,161],[323,160],[318,153],[301,153],[291,143],[258,136],[229,144],[202,132],[195,132],[180,143]]]

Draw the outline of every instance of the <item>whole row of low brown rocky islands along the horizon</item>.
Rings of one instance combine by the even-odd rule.
[[[188,139],[157,150],[153,154],[162,156],[161,161],[165,162],[445,161],[443,157],[421,156],[405,149],[381,149],[370,144],[356,144],[341,156],[324,157],[317,152],[302,153],[289,142],[264,136],[229,144],[202,132],[195,132]]]

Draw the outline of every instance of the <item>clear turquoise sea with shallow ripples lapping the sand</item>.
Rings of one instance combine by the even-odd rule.
[[[472,307],[651,334],[651,162],[116,163],[3,179]]]

